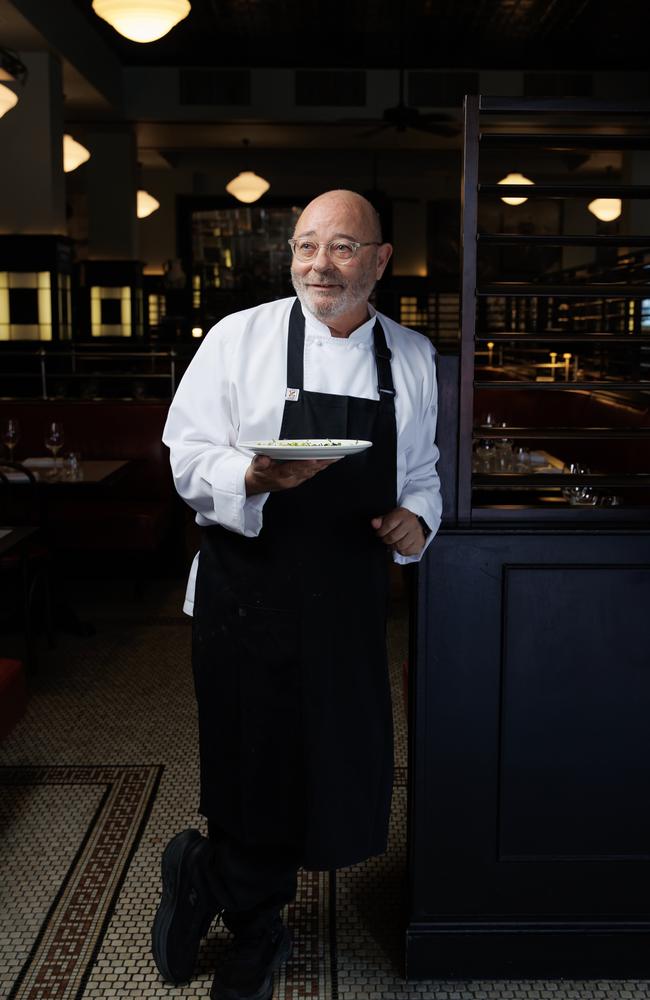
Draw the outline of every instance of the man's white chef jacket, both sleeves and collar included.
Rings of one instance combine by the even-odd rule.
[[[244,476],[253,453],[238,442],[280,436],[285,394],[292,388],[287,386],[287,341],[294,302],[294,298],[267,302],[220,320],[208,331],[178,386],[163,441],[170,449],[176,489],[196,511],[199,525],[221,524],[250,538],[262,529],[269,494],[246,496]],[[375,315],[379,316],[392,352],[397,502],[430,526],[428,545],[442,510],[434,444],[435,351],[422,334],[376,314],[370,305],[368,311],[370,319],[349,337],[333,337],[324,323],[303,309],[304,388],[378,399],[372,329]],[[409,563],[420,555],[394,553],[393,558]],[[183,607],[190,615],[197,568],[198,553]]]

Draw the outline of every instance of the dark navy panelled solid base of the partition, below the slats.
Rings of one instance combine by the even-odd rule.
[[[650,530],[445,529],[420,571],[407,972],[650,974]]]

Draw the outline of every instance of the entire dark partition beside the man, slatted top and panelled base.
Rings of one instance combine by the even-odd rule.
[[[642,110],[467,101],[461,354],[439,366],[446,511],[413,622],[412,978],[650,977],[650,236],[583,234],[615,258],[533,282],[481,284],[477,265],[482,243],[509,238],[480,232],[481,190],[500,193],[482,142],[647,148]],[[503,116],[500,134],[482,112]],[[574,177],[549,190],[585,208],[650,193]],[[540,343],[585,370],[539,363]],[[505,428],[486,430],[487,406]],[[488,435],[559,456],[557,471],[477,469]],[[567,475],[574,454],[589,469]]]

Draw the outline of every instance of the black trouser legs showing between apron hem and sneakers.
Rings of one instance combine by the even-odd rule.
[[[226,927],[239,931],[263,926],[296,895],[299,851],[276,844],[243,844],[208,820],[213,854],[206,880],[225,906]]]

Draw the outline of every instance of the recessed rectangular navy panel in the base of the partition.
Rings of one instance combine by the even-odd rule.
[[[649,860],[650,567],[504,583],[499,860]]]

